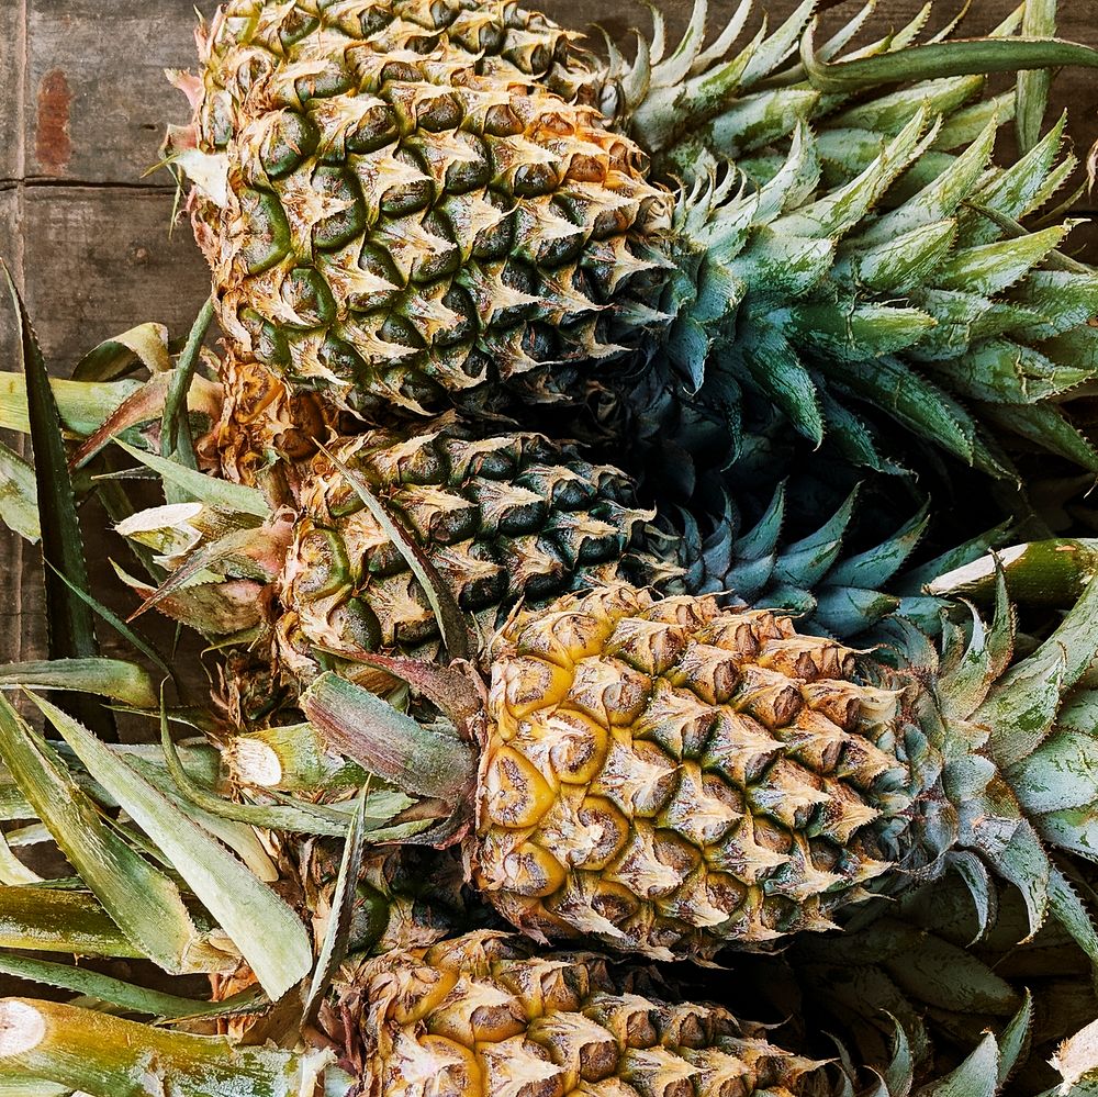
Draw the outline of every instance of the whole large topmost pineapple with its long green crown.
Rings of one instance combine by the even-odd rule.
[[[860,463],[898,422],[1000,475],[1011,436],[1098,468],[1063,402],[1098,280],[1069,224],[1017,225],[1074,166],[1062,123],[998,169],[1012,99],[979,76],[821,94],[788,60],[813,8],[736,53],[750,4],[703,51],[699,2],[673,54],[603,68],[511,4],[233,0],[172,137],[229,381],[522,415],[653,371],[733,437],[754,393]]]

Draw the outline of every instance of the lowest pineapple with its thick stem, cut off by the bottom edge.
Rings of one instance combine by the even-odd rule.
[[[466,934],[346,964],[321,1010],[324,1032],[305,1030],[325,1049],[311,1051],[293,1050],[292,1031],[281,1041],[290,1050],[232,1048],[72,1005],[7,998],[0,1081],[55,1082],[90,1097],[158,1097],[165,1082],[193,1097],[291,1097],[313,1093],[322,1078],[333,1097],[854,1092],[847,1060],[786,1051],[766,1026],[715,1005],[650,997],[638,984],[643,989],[643,972],[615,971],[594,953],[546,956],[514,937]],[[920,1092],[955,1092],[951,1085],[972,1086],[988,1070],[1006,1076],[1016,1056],[989,1036],[954,1075]],[[900,1041],[872,1092],[899,1097],[911,1083]]]

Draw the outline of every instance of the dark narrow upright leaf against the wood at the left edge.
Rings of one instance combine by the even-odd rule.
[[[8,268],[3,267],[8,292],[19,317],[20,358],[26,376],[26,403],[34,450],[41,527],[43,577],[46,594],[48,651],[52,659],[87,659],[99,654],[96,622],[89,607],[74,597],[57,578],[59,572],[81,590],[90,590],[83,538],[76,512],[72,481],[68,471],[65,443],[61,439],[57,402],[49,387],[49,376],[37,339],[26,315],[23,299],[15,289]],[[56,572],[55,570],[56,569]],[[116,739],[114,717],[94,698],[76,694],[67,698],[72,714],[99,736]]]

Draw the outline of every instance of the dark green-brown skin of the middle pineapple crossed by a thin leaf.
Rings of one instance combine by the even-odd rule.
[[[627,478],[542,435],[482,438],[444,419],[411,438],[371,430],[332,452],[421,546],[482,641],[520,603],[675,572],[630,548],[652,515]],[[280,665],[309,678],[320,649],[434,658],[426,592],[356,488],[324,454],[302,479],[278,583]]]

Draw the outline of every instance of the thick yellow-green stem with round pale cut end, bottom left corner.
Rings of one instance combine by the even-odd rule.
[[[30,998],[0,1000],[0,1084],[57,1082],[91,1097],[311,1094],[326,1053],[234,1048],[108,1014]],[[306,1088],[309,1086],[310,1088]]]

